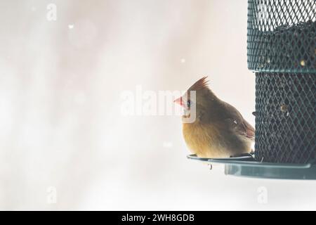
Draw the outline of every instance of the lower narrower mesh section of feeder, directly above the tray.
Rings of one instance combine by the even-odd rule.
[[[256,73],[256,159],[316,159],[316,76]]]

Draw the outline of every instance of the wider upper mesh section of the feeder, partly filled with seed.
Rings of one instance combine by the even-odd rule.
[[[316,72],[316,1],[249,0],[248,68]]]

